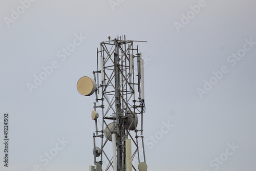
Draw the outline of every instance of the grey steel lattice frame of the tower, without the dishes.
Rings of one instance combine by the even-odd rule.
[[[104,134],[104,130],[109,129],[107,125],[110,121],[116,125],[114,132],[116,134],[117,170],[126,170],[125,139],[132,141],[134,147],[132,160],[136,158],[140,162],[142,157],[143,162],[146,162],[143,142],[145,105],[144,99],[141,98],[141,53],[139,53],[138,46],[134,48],[134,42],[136,41],[125,40],[125,36],[122,40],[120,36],[117,39],[101,42],[100,50],[97,49],[97,71],[93,72],[97,84],[94,110],[98,109],[102,115],[95,120],[96,131],[93,138],[94,151],[97,145],[100,145],[102,150],[100,159],[94,154],[94,164],[98,164],[100,169],[113,170],[113,154],[108,153],[107,147],[110,140]],[[140,121],[134,131],[131,131],[133,123],[129,126],[125,125],[128,119],[127,114],[131,112],[137,115]],[[133,122],[135,121],[134,117]],[[97,126],[99,122],[101,122],[100,131]],[[113,130],[108,131],[113,133]],[[139,154],[139,146],[142,147],[142,154]],[[106,168],[103,168],[103,161]],[[137,170],[134,165],[132,167]]]

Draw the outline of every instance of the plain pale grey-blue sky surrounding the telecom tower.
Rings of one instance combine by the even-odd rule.
[[[100,42],[124,34],[147,41],[138,43],[145,62],[144,137],[153,142],[150,137],[158,136],[153,146],[145,145],[148,170],[255,170],[256,45],[234,66],[227,59],[242,52],[245,39],[256,42],[256,2],[205,0],[178,31],[174,23],[198,3],[125,0],[112,8],[109,0],[37,0],[8,27],[5,17],[21,4],[1,0],[0,137],[3,142],[8,112],[10,142],[8,168],[0,145],[0,170],[89,170],[94,97],[81,96],[76,83],[96,71]],[[87,39],[61,61],[57,52],[75,34]],[[58,67],[31,93],[27,83],[54,60]],[[228,72],[200,98],[197,89],[223,66]],[[163,122],[174,125],[166,134]],[[69,143],[44,165],[39,157],[58,138]],[[239,147],[223,158],[228,143]],[[220,156],[225,161],[216,164]]]

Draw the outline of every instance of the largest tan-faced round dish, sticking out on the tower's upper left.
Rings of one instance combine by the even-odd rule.
[[[81,77],[77,81],[77,90],[83,96],[91,96],[96,90],[96,82],[91,77]]]

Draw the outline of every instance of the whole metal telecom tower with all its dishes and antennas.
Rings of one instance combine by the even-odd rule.
[[[81,77],[77,82],[80,94],[95,93],[96,97],[92,111],[96,129],[94,166],[90,171],[147,169],[143,142],[144,63],[135,42],[146,41],[109,36],[109,41],[102,41],[97,48],[93,78]]]

